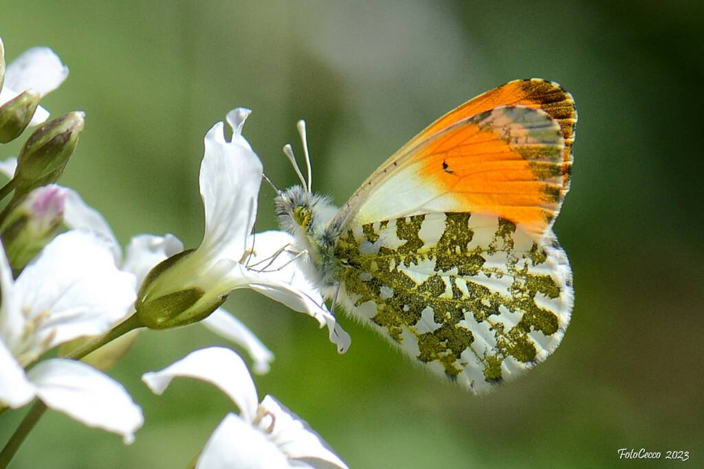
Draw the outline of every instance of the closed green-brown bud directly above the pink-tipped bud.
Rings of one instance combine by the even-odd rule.
[[[26,193],[61,176],[83,130],[84,116],[81,111],[65,114],[30,135],[17,158],[17,191]]]

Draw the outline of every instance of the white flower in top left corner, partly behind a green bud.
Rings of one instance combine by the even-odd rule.
[[[0,44],[1,46],[1,44]],[[68,67],[48,47],[32,47],[15,58],[5,69],[5,84],[0,89],[0,105],[7,103],[27,89],[45,96],[58,88],[68,77]],[[30,126],[49,118],[49,111],[37,106]]]

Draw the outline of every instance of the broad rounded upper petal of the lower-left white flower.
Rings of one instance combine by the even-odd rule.
[[[37,330],[28,346],[44,352],[78,337],[106,332],[135,299],[134,275],[120,271],[110,246],[93,233],[56,236],[15,282],[23,314]]]

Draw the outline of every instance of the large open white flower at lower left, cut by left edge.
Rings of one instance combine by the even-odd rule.
[[[0,249],[0,404],[38,397],[86,425],[132,442],[142,411],[125,389],[80,361],[39,356],[75,338],[99,335],[134,302],[134,276],[115,267],[94,234],[68,231],[51,241],[16,281]]]

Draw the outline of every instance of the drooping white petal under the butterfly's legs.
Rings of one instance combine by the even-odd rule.
[[[246,259],[246,276],[254,290],[281,302],[296,311],[306,312],[327,326],[330,340],[344,353],[351,338],[325,307],[320,290],[303,271],[302,259],[285,248],[294,244],[294,237],[284,231],[264,231],[251,236],[252,255]]]

